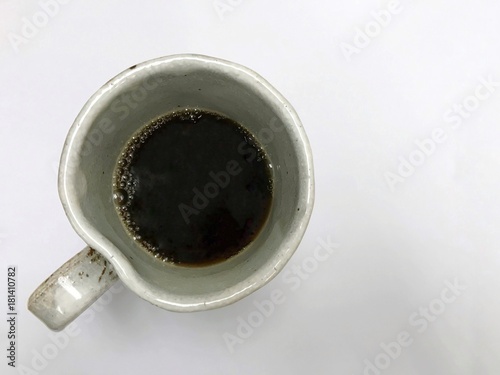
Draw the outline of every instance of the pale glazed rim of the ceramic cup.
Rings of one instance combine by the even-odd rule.
[[[300,153],[297,157],[299,158],[300,168],[303,170],[304,175],[307,176],[307,179],[302,183],[303,189],[300,189],[298,197],[302,211],[301,219],[296,223],[296,226],[293,228],[294,230],[287,235],[284,241],[286,243],[282,244],[282,250],[279,252],[280,256],[276,258],[275,262],[266,265],[265,268],[263,267],[256,270],[252,275],[252,282],[244,288],[240,287],[240,290],[235,290],[235,286],[232,285],[228,286],[228,288],[217,296],[189,296],[186,297],[184,301],[182,299],[179,300],[179,298],[175,300],[160,298],[157,293],[155,293],[155,290],[151,288],[150,284],[137,272],[120,249],[116,248],[97,228],[87,221],[78,204],[75,190],[70,185],[69,178],[69,173],[72,168],[70,165],[72,153],[78,151],[72,147],[73,143],[79,136],[84,136],[86,134],[85,130],[91,127],[92,121],[88,121],[88,119],[92,118],[92,116],[99,111],[98,103],[100,98],[105,96],[110,90],[118,87],[118,83],[130,77],[132,73],[134,75],[141,74],[141,71],[145,72],[150,66],[169,64],[173,61],[182,61],[192,64],[216,64],[225,74],[233,75],[237,71],[239,73],[238,80],[251,82],[253,85],[256,85],[259,93],[263,94],[266,100],[285,107],[290,117],[288,126],[294,127],[295,134],[298,135],[301,140]],[[302,123],[292,105],[269,82],[253,70],[234,62],[199,54],[178,54],[148,60],[134,65],[132,68],[133,69],[129,68],[116,75],[92,95],[69,130],[61,156],[58,179],[59,197],[63,208],[77,234],[90,247],[100,252],[114,266],[123,283],[141,298],[161,308],[177,312],[209,310],[232,304],[267,284],[284,268],[302,240],[309,223],[314,206],[313,159],[311,146],[302,127]]]

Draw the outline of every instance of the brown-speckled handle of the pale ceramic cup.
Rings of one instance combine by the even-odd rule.
[[[86,247],[48,277],[30,296],[28,310],[53,331],[60,331],[116,281],[113,266]]]

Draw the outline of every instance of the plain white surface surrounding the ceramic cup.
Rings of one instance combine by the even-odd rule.
[[[498,1],[401,1],[381,30],[372,12],[388,2],[375,0],[221,0],[233,5],[219,13],[213,0],[66,2],[44,18],[37,1],[0,0],[0,312],[8,265],[19,310],[17,369],[0,319],[1,374],[500,372],[500,85],[474,98],[500,82]],[[358,37],[347,56],[365,28],[369,45]],[[108,79],[176,53],[246,65],[294,105],[315,161],[306,236],[283,274],[232,306],[177,314],[118,288],[57,348],[26,303],[84,247],[57,196],[67,131]],[[416,142],[436,131],[424,155]],[[321,241],[338,246],[318,262]],[[259,320],[274,290],[284,301]],[[249,316],[258,327],[242,338]]]

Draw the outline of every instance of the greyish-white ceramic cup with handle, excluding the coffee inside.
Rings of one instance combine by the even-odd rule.
[[[224,114],[256,136],[272,164],[274,195],[267,223],[247,248],[221,263],[190,268],[156,259],[130,237],[113,203],[112,177],[138,129],[193,107]],[[207,56],[167,56],[127,69],[90,98],[64,145],[59,195],[89,247],[30,297],[30,311],[49,328],[63,329],[118,277],[166,310],[207,310],[254,292],[290,259],[313,209],[312,154],[290,103],[258,74]]]

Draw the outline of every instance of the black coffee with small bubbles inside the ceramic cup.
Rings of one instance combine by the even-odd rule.
[[[245,128],[189,109],[163,116],[126,145],[114,201],[125,227],[163,261],[206,265],[242,250],[270,211],[270,162]]]

